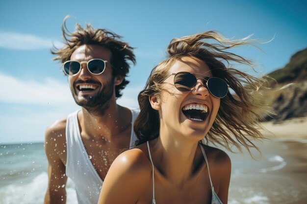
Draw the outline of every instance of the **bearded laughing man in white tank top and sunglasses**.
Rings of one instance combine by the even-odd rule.
[[[113,160],[134,146],[138,111],[116,104],[135,64],[132,47],[121,36],[90,24],[74,32],[62,25],[64,46],[51,50],[63,63],[70,89],[81,110],[55,121],[46,131],[49,183],[45,204],[66,203],[67,178],[74,181],[78,204],[97,204]]]

